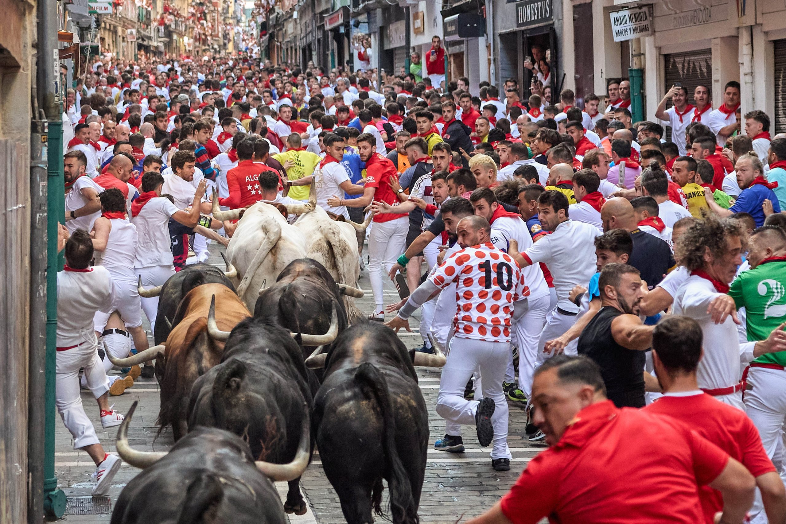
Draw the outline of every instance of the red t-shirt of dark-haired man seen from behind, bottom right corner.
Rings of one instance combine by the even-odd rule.
[[[695,427],[696,433],[739,460],[754,477],[776,471],[751,419],[740,409],[715,400],[711,395],[701,392],[685,397],[665,395],[648,405],[645,411],[670,416]],[[723,496],[717,489],[702,486],[699,498],[704,520],[712,524],[715,513],[723,511]]]

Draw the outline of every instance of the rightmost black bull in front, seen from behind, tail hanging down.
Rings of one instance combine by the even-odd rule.
[[[443,355],[433,358],[444,364]],[[314,397],[314,433],[349,524],[373,522],[372,509],[381,515],[383,478],[393,522],[418,522],[428,412],[412,357],[395,332],[364,322],[340,333]]]

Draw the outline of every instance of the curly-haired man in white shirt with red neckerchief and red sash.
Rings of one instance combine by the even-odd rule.
[[[699,363],[699,387],[743,411],[736,306],[726,293],[742,264],[744,235],[740,222],[719,221],[711,215],[694,222],[679,237],[674,252],[691,276],[674,297],[672,310],[701,326],[704,354]]]

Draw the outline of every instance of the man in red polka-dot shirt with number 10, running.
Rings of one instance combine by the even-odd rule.
[[[475,424],[480,445],[485,447],[494,442],[491,467],[496,471],[508,471],[511,458],[508,402],[502,380],[508,367],[514,304],[527,297],[530,291],[513,258],[491,244],[490,231],[486,218],[479,215],[461,218],[456,227],[461,251],[446,258],[385,325],[396,332],[400,328],[410,331],[407,319],[417,308],[442,289],[455,290],[456,311],[461,315],[457,316],[456,332],[450,339],[436,411],[456,426]],[[498,261],[496,269],[491,267],[489,261],[492,259]],[[496,274],[494,279],[490,272]],[[483,400],[468,401],[464,398],[464,390],[476,368],[483,376]],[[435,442],[435,449],[463,452],[461,434],[446,434]]]

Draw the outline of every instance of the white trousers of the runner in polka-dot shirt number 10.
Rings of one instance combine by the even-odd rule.
[[[472,425],[479,401],[464,398],[464,388],[476,368],[483,376],[483,398],[494,400],[494,449],[492,459],[510,458],[508,449],[508,402],[502,391],[502,379],[508,365],[510,343],[465,339],[455,335],[450,339],[450,353],[439,380],[437,415],[455,424]],[[455,434],[454,436],[458,436]]]

